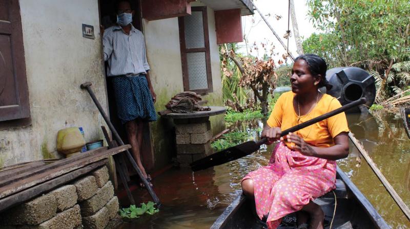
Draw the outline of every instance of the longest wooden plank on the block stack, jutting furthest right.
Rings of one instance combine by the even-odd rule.
[[[45,182],[47,180],[53,179],[57,176],[66,174],[68,172],[71,172],[73,170],[82,168],[84,166],[87,166],[91,163],[100,161],[101,159],[107,158],[108,156],[115,155],[117,153],[123,152],[127,149],[131,148],[130,145],[124,145],[124,146],[119,146],[113,149],[109,149],[104,152],[100,152],[96,155],[92,155],[83,159],[80,159],[79,161],[72,162],[70,164],[60,166],[51,170],[44,171],[43,173],[39,173],[35,176],[30,176],[22,180],[18,180],[16,182],[13,182],[7,186],[1,187],[0,188],[0,198],[4,198],[6,196],[9,196],[11,194],[20,192],[24,189],[28,189],[32,186],[35,186],[37,184],[40,184],[42,182]]]

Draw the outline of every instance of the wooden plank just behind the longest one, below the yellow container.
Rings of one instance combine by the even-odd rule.
[[[5,179],[5,180],[0,180],[0,187],[11,184],[12,182],[15,182],[17,180],[24,179],[24,178],[33,176],[33,175],[38,174],[38,173],[42,173],[46,170],[54,169],[54,168],[60,167],[62,165],[66,165],[66,164],[78,161],[79,159],[98,154],[98,153],[103,152],[107,149],[108,149],[107,147],[101,147],[101,148],[98,148],[98,149],[90,150],[90,151],[87,151],[87,152],[84,152],[84,153],[80,153],[80,154],[77,154],[77,155],[74,155],[74,156],[70,156],[70,157],[65,158],[65,159],[61,159],[58,162],[51,163],[51,164],[43,166],[43,167],[39,167],[39,168],[34,169],[32,171],[28,171],[28,172],[19,174],[17,176],[12,176],[12,177],[9,177],[8,179]]]

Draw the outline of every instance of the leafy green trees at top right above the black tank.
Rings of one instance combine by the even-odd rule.
[[[308,0],[316,28],[303,42],[305,53],[324,56],[330,66],[355,65],[380,71],[410,59],[408,0]]]

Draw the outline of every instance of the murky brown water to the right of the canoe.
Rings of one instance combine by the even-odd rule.
[[[372,157],[386,179],[403,201],[410,205],[410,141],[407,139],[399,114],[377,112],[360,117],[348,114],[349,128]],[[371,168],[361,159],[357,166],[357,149],[351,145],[348,158],[339,160],[339,167],[374,205],[392,228],[410,228],[407,218],[397,207]]]

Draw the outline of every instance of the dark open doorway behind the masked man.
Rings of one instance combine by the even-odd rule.
[[[116,25],[116,8],[117,3],[120,0],[99,0],[99,15],[100,15],[100,25],[103,26],[105,29],[111,26]],[[133,26],[142,31],[142,17],[141,17],[141,5],[140,0],[132,0],[129,1],[131,4],[131,8],[135,11],[134,18],[133,18]],[[105,70],[107,73],[107,63],[105,64]],[[113,126],[117,130],[118,134],[120,135],[122,141],[125,144],[128,144],[127,133],[125,130],[125,126],[121,124],[121,121],[118,119],[117,116],[117,106],[114,97],[114,89],[112,87],[112,78],[107,77],[106,75],[106,82],[107,82],[107,97],[108,97],[108,108],[109,108],[109,117],[110,121],[112,122]],[[153,154],[153,147],[151,143],[151,134],[150,134],[150,125],[148,123],[144,123],[144,134],[142,136],[142,152],[141,152],[141,159],[142,164],[146,170],[152,170],[154,168],[154,154]],[[129,167],[130,168],[130,167]],[[147,171],[148,172],[148,171]]]

